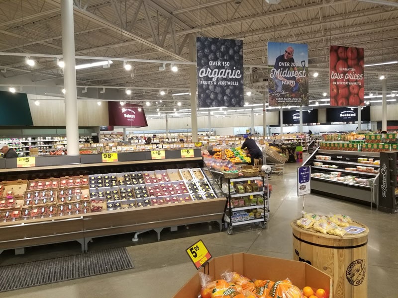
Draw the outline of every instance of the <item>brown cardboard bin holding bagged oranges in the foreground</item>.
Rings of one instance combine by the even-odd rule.
[[[225,271],[235,271],[250,279],[279,281],[289,278],[302,289],[305,286],[327,290],[332,298],[332,278],[304,262],[277,259],[248,253],[235,253],[211,259],[200,269],[214,279],[219,279]],[[174,298],[198,298],[200,294],[199,274],[195,274]]]

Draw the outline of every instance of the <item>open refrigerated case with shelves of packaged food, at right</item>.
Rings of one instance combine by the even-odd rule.
[[[357,203],[376,203],[380,153],[315,150],[303,165],[311,166],[311,192]]]

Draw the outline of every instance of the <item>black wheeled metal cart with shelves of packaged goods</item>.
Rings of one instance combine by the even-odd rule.
[[[223,178],[223,182],[227,182],[228,190],[225,192],[228,196],[227,206],[225,208],[224,223],[227,233],[233,233],[233,227],[242,224],[256,224],[261,228],[267,228],[269,210],[268,199],[270,190],[268,188],[268,174],[266,174],[266,182],[263,176],[242,177],[242,178]],[[262,181],[262,186],[258,190],[251,192],[238,193],[236,184],[256,183],[256,180]],[[242,206],[243,205],[243,206]]]

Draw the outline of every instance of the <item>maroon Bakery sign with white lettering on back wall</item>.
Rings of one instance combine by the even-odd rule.
[[[120,105],[118,101],[108,102],[109,125],[144,127],[148,126],[144,109],[139,105]]]

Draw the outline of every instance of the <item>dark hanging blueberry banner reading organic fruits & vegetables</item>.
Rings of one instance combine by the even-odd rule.
[[[199,108],[243,107],[242,40],[197,37]]]

